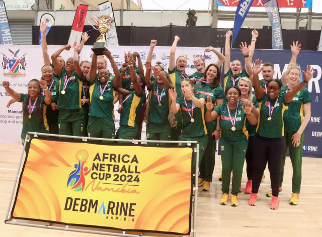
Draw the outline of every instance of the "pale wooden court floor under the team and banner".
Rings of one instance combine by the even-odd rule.
[[[0,143],[0,216],[5,219],[14,183],[22,146],[15,143]],[[270,198],[265,193],[270,189],[269,172],[261,184],[257,206],[249,206],[249,195],[238,195],[239,206],[219,205],[221,183],[217,180],[220,173],[220,159],[216,166],[209,192],[199,190],[197,212],[198,236],[322,236],[322,158],[303,158],[302,186],[299,205],[291,206],[291,163],[286,161],[283,194],[280,208],[269,208]],[[244,166],[243,189],[247,181]],[[5,224],[0,221],[1,236],[102,236],[98,234],[70,232],[19,225]],[[152,235],[152,234],[149,234]],[[158,236],[160,236],[158,234]]]

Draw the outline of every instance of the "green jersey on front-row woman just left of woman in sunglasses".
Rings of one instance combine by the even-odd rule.
[[[238,103],[235,109],[229,109],[231,120],[229,117],[227,105],[228,102],[224,102],[214,108],[214,111],[216,111],[220,116],[219,125],[221,128],[221,138],[231,143],[238,143],[240,141],[248,140],[248,131],[246,128],[247,117],[243,109],[241,109],[242,105]],[[235,117],[235,130],[232,131],[232,122],[235,120]]]

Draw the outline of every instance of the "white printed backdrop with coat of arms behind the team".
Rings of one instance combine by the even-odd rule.
[[[61,46],[48,46],[49,55],[59,49]],[[16,57],[14,57],[14,54]],[[19,50],[19,51],[18,51]],[[124,62],[124,54],[127,51],[137,51],[142,59],[144,64],[146,60],[146,56],[149,50],[149,46],[110,46],[109,50],[111,51],[113,58],[118,65]],[[197,48],[197,47],[178,47],[176,57],[179,55],[185,54],[188,58],[188,67],[186,72],[188,74],[192,74],[196,70],[193,67],[193,58],[198,55],[203,55],[204,48]],[[219,51],[220,48],[217,48]],[[17,52],[18,51],[18,52]],[[16,53],[17,52],[17,53]],[[156,61],[162,61],[165,69],[168,70],[169,66],[169,52],[170,47],[158,47],[154,48],[153,57],[152,57],[152,65]],[[91,61],[91,46],[84,46],[82,53],[81,53],[81,60],[89,60]],[[10,96],[7,95],[5,88],[2,86],[2,81],[8,80],[10,82],[11,87],[20,93],[27,93],[27,84],[28,82],[33,79],[40,79],[41,78],[41,67],[43,66],[43,57],[41,47],[38,45],[1,45],[0,46],[0,74],[2,76],[2,80],[0,81],[0,142],[21,142],[20,134],[22,129],[22,106],[21,103],[16,102],[10,106],[10,108],[6,108],[8,101],[10,100]],[[5,65],[4,58],[9,60],[19,60],[22,57],[25,57],[25,67],[22,64],[19,64],[19,69],[16,72],[16,76],[9,75],[10,73],[10,62]],[[62,54],[64,59],[67,57],[72,57],[73,50],[70,51],[63,51]],[[6,61],[6,60],[5,60]],[[206,53],[206,65],[212,62],[216,62],[217,57],[213,53]],[[6,68],[4,69],[4,66]],[[108,69],[111,73],[113,70],[111,68],[111,64],[108,63]],[[115,108],[117,108],[117,104],[115,104]],[[119,114],[115,109],[115,126],[118,129],[119,125]],[[145,128],[143,127],[143,134],[142,139],[145,138]]]

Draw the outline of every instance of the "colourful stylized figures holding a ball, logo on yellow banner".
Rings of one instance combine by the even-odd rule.
[[[68,175],[67,187],[71,187],[74,191],[82,191],[85,187],[85,176],[91,171],[88,167],[85,167],[85,163],[89,154],[86,150],[79,150],[76,153],[76,159],[78,164],[74,165],[75,170]]]

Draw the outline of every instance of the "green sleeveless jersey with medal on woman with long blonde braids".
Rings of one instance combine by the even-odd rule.
[[[157,84],[152,82],[149,91],[149,122],[154,124],[169,124],[169,92],[168,88],[158,89]]]

